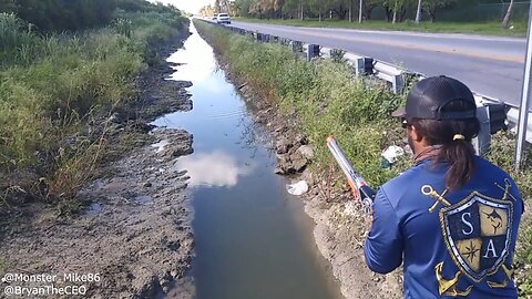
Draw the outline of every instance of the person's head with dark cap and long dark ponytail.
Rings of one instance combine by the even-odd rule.
[[[472,92],[462,82],[432,76],[412,86],[405,107],[392,113],[403,118],[408,140],[416,154],[439,145],[436,162],[447,162],[447,183],[462,185],[472,175],[474,150],[471,140],[480,130]]]

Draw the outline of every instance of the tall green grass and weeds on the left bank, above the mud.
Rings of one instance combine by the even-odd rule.
[[[127,17],[99,30],[41,35],[0,14],[0,175],[31,173],[23,176],[30,182],[7,179],[0,189],[44,184],[42,198],[72,198],[90,178],[106,141],[98,122],[136,100],[134,80],[154,44],[185,22],[171,13]]]

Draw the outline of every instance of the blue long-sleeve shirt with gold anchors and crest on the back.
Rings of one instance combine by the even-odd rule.
[[[516,298],[511,265],[523,202],[515,183],[475,157],[473,177],[443,193],[447,169],[426,161],[381,186],[364,245],[368,267],[387,274],[402,264],[405,298]]]

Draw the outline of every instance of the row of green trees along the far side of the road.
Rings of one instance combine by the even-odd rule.
[[[215,0],[200,11],[203,16],[228,12],[237,17],[267,19],[340,19],[365,21],[375,18],[376,9],[381,9],[389,22],[402,22],[409,13],[419,22],[421,16],[438,20],[442,9],[453,9],[478,3],[507,3],[508,10],[503,27],[508,27],[514,0]]]

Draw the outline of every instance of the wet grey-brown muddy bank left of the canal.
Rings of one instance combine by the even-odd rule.
[[[140,101],[119,107],[106,120],[106,154],[112,158],[99,169],[100,178],[78,193],[76,202],[85,206],[80,214],[64,216],[57,206],[28,203],[3,227],[2,274],[58,277],[47,283],[13,281],[2,287],[83,286],[89,298],[157,298],[178,289],[172,298],[193,297],[187,277],[194,245],[185,192],[188,176],[174,168],[178,156],[193,152],[193,138],[182,130],[151,131],[146,124],[163,113],[192,109],[184,90],[191,83],[165,80],[173,70],[164,61],[188,34],[158,49],[158,62],[137,80]],[[94,130],[101,125],[94,124]],[[65,281],[63,274],[92,279]]]

